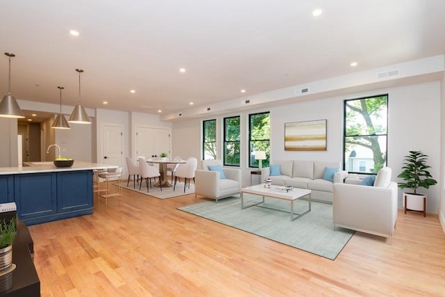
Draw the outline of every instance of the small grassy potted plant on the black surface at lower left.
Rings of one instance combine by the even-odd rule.
[[[15,217],[9,222],[0,220],[0,271],[13,264],[13,243],[17,235]]]

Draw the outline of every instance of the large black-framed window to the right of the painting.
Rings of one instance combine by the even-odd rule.
[[[388,95],[344,102],[344,168],[372,173],[387,164]]]

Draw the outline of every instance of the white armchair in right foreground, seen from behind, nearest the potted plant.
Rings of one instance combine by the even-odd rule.
[[[397,219],[397,184],[391,182],[391,168],[380,169],[373,186],[358,181],[334,184],[334,226],[385,236],[391,243]]]

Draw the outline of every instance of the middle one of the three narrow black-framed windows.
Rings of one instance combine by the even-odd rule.
[[[240,120],[239,116],[224,118],[224,165],[239,166]]]

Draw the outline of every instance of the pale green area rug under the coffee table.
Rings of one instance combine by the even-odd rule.
[[[254,195],[244,197],[245,205],[261,200]],[[256,206],[241,209],[239,198],[202,202],[178,209],[332,260],[354,234],[353,230],[341,227],[334,231],[331,204],[312,202],[312,210],[293,222],[289,214],[290,202],[266,198],[264,206],[282,211]],[[307,208],[307,200],[294,202],[296,213],[300,214]]]

